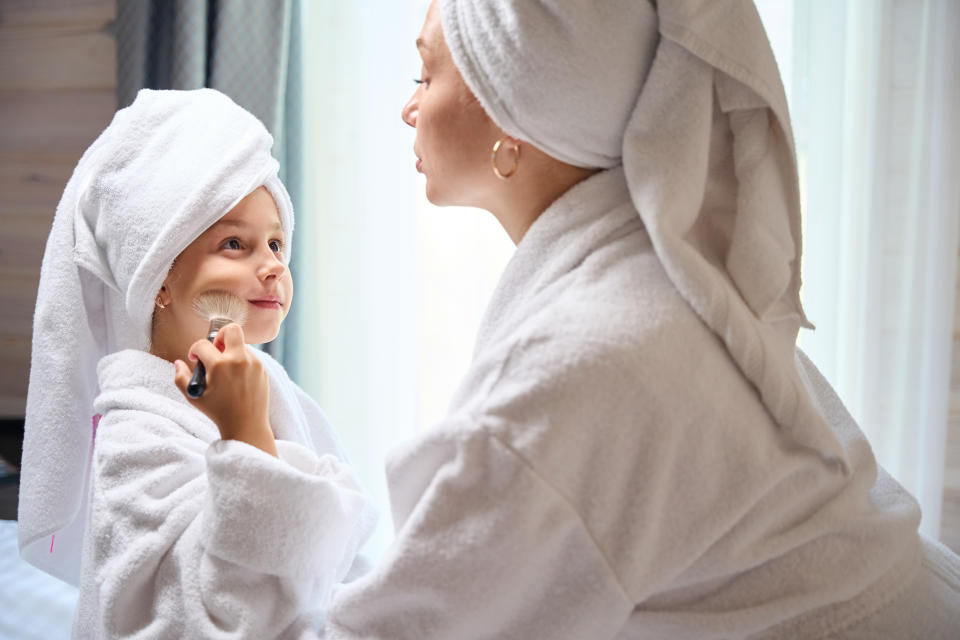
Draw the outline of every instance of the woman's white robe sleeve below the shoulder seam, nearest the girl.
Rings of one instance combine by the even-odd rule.
[[[338,591],[326,637],[600,638],[623,626],[633,604],[590,532],[508,444],[452,428],[408,455],[418,473],[392,484],[396,541]]]

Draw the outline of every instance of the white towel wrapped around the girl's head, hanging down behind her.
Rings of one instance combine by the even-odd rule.
[[[145,89],[67,183],[40,272],[18,514],[21,554],[48,573],[79,581],[97,362],[149,350],[174,259],[256,188],[270,191],[292,246],[272,144],[222,93]]]

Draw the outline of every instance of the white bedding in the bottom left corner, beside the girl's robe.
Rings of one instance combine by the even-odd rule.
[[[0,639],[69,638],[76,604],[75,587],[20,558],[16,520],[0,520]]]

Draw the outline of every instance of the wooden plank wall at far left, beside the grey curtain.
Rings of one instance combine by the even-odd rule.
[[[0,0],[0,417],[22,417],[40,263],[74,166],[116,109],[114,0]]]

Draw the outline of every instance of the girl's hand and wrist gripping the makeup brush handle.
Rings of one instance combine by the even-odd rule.
[[[213,420],[224,440],[241,440],[276,456],[270,429],[270,387],[260,359],[247,347],[243,329],[228,324],[213,343],[198,340],[190,346],[190,359],[207,369],[207,389],[199,398],[187,396],[192,374],[183,360],[173,363],[180,392]]]

